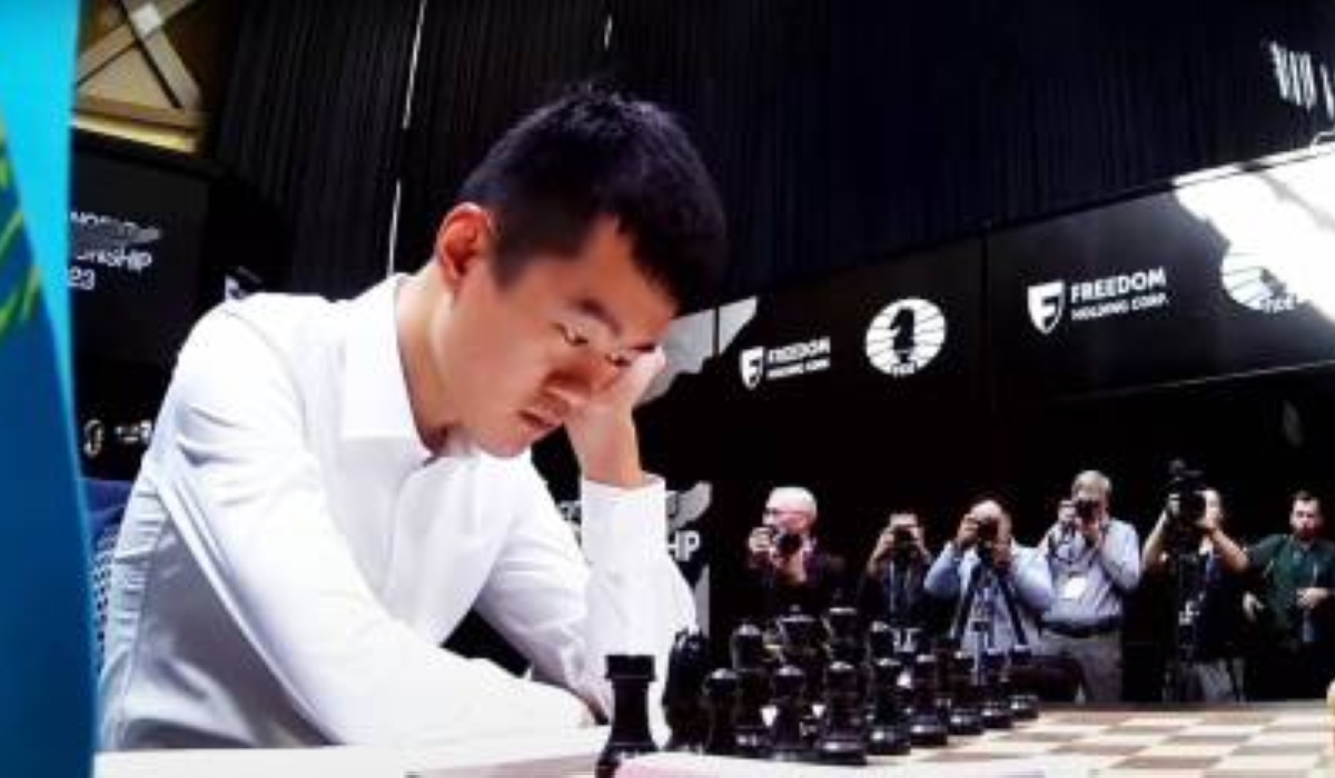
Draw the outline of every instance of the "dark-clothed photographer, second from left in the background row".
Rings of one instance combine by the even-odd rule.
[[[934,615],[922,586],[930,564],[917,514],[890,514],[862,571],[858,613],[866,621],[880,619],[893,627],[926,629]]]

